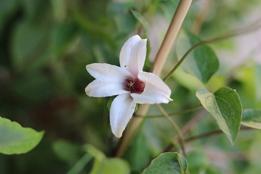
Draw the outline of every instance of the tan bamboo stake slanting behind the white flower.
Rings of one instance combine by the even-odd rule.
[[[166,62],[169,51],[176,39],[176,36],[180,30],[180,27],[185,19],[185,16],[188,12],[192,0],[180,0],[179,5],[175,11],[175,14],[171,20],[168,31],[165,35],[165,38],[162,42],[162,45],[157,53],[156,59],[152,65],[151,72],[160,75],[163,66]],[[149,104],[141,105],[138,111],[136,112],[138,115],[146,116],[147,111],[149,109]],[[129,143],[139,130],[139,127],[143,121],[141,117],[133,117],[132,121],[129,123],[126,128],[123,137],[121,139],[120,145],[116,152],[116,157],[121,157],[123,152],[128,147]]]

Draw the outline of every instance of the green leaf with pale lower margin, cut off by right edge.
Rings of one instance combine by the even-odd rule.
[[[244,109],[241,124],[261,129],[261,109]]]

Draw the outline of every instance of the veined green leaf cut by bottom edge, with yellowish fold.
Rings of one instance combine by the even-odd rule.
[[[187,169],[187,160],[178,153],[162,153],[151,161],[142,174],[182,174]]]

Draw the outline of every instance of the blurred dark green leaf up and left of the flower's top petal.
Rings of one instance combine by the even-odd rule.
[[[56,57],[62,56],[79,35],[79,27],[74,22],[57,26],[52,37],[52,52]]]

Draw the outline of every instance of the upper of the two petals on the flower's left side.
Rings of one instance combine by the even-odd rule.
[[[127,70],[107,63],[92,63],[86,65],[88,73],[95,79],[110,79],[113,81],[124,81],[133,78],[133,75]]]

